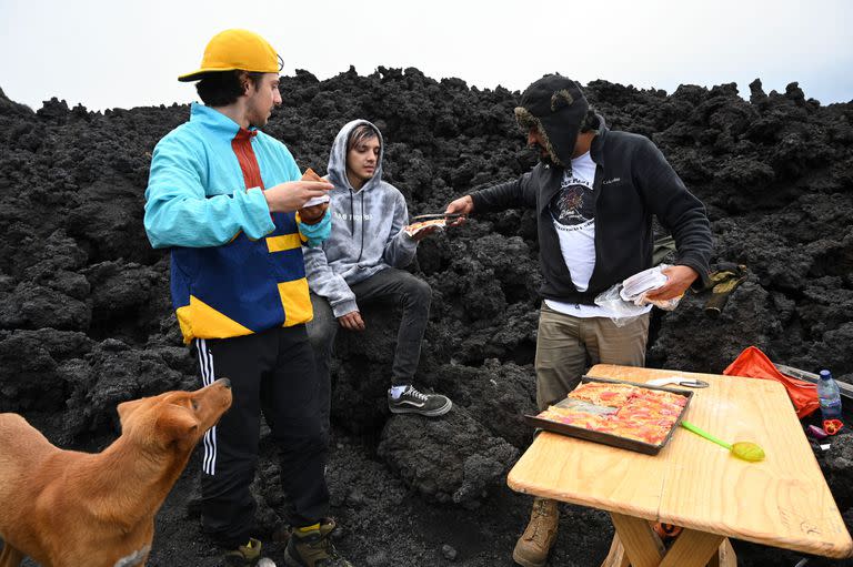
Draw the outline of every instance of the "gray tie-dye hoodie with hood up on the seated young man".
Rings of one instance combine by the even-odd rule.
[[[353,120],[344,125],[329,155],[327,178],[334,185],[329,193],[332,233],[322,246],[302,247],[308,285],[329,301],[335,317],[359,308],[350,285],[387,267],[409,265],[418,249],[418,242],[403,231],[409,223],[403,194],[382,181],[385,144],[381,133],[373,176],[360,191],[353,190],[347,179],[347,140],[359,124],[373,125],[367,120]]]

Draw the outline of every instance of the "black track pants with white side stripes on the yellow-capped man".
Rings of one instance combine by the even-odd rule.
[[[324,467],[328,433],[321,426],[318,379],[304,325],[233,338],[195,341],[203,384],[230,378],[233,404],[203,439],[202,526],[225,546],[252,534],[249,492],[258,465],[260,414],[281,449],[281,483],[297,526],[328,515]]]

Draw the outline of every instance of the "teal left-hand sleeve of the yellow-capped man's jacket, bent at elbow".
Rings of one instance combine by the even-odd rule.
[[[194,144],[167,136],[157,144],[145,190],[144,226],[151,245],[208,247],[230,242],[240,231],[260,239],[275,229],[260,189],[234,188],[208,198],[207,164]]]

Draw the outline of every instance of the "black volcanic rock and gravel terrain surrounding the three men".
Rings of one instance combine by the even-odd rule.
[[[512,117],[518,93],[436,82],[415,69],[284,78],[265,129],[301,168],[325,171],[354,118],[377,123],[388,181],[411,214],[530,169]],[[796,83],[750,100],[733,84],[668,95],[595,81],[588,97],[614,129],[653,139],[708,205],[714,262],[749,267],[717,318],[706,295],[658,314],[649,364],[721,372],[746,346],[853,382],[853,104],[822,107]],[[197,384],[171,313],[168,257],[142,229],[150,153],[185,105],[88,112],[56,99],[37,112],[0,91],[0,411],[52,442],[97,450],[117,435],[119,402]],[[340,548],[361,566],[509,566],[530,500],[505,474],[530,441],[539,284],[530,213],[473,219],[432,237],[412,271],[433,288],[419,381],[449,394],[445,419],[390,418],[383,407],[397,325],[365,310],[358,343],[341,333],[329,467]],[[849,423],[850,408],[847,409]],[[197,457],[198,458],[198,457]],[[853,436],[819,457],[853,527]],[[151,566],[217,565],[200,537],[198,462],[158,517]],[[259,533],[281,564],[275,450],[264,437]],[[551,565],[596,566],[612,535],[603,513],[565,506]],[[735,541],[742,565],[799,556]],[[813,559],[810,566],[853,561]]]

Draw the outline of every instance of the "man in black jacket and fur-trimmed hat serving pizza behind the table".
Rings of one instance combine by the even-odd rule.
[[[678,297],[698,280],[708,284],[711,227],[661,151],[648,138],[608,129],[574,81],[559,74],[535,81],[515,118],[540,162],[518,180],[456,199],[446,212],[536,211],[543,275],[536,403],[545,409],[574,389],[590,364],[645,364],[649,311],[618,325],[621,314],[594,298],[652,267],[652,216],[678,249],[663,271],[668,282],[648,295],[653,301]],[[513,559],[545,565],[558,519],[554,500],[535,498]]]

